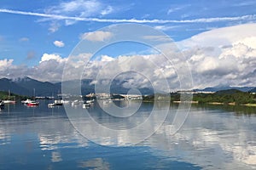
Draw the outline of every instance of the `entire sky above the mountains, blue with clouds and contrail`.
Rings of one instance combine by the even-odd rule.
[[[107,41],[114,37],[113,33],[98,30],[134,23],[150,26],[172,38],[183,53],[179,62],[189,65],[193,88],[255,86],[255,8],[253,0],[1,0],[0,77],[61,81],[63,68],[70,61],[68,56],[79,42]],[[161,76],[172,82],[176,76],[172,85],[177,85],[175,68],[168,69],[171,64],[160,60],[159,54],[145,45],[115,44],[97,55],[86,68],[85,77],[96,77],[108,62],[118,65],[129,58],[130,65],[140,67],[141,74],[152,72],[149,82],[157,83]],[[89,57],[79,56],[81,60]],[[147,60],[163,64],[150,70],[150,65],[145,64]],[[73,69],[84,66],[73,65]],[[142,86],[147,86],[146,82],[143,77],[131,75],[127,81],[128,85]]]

